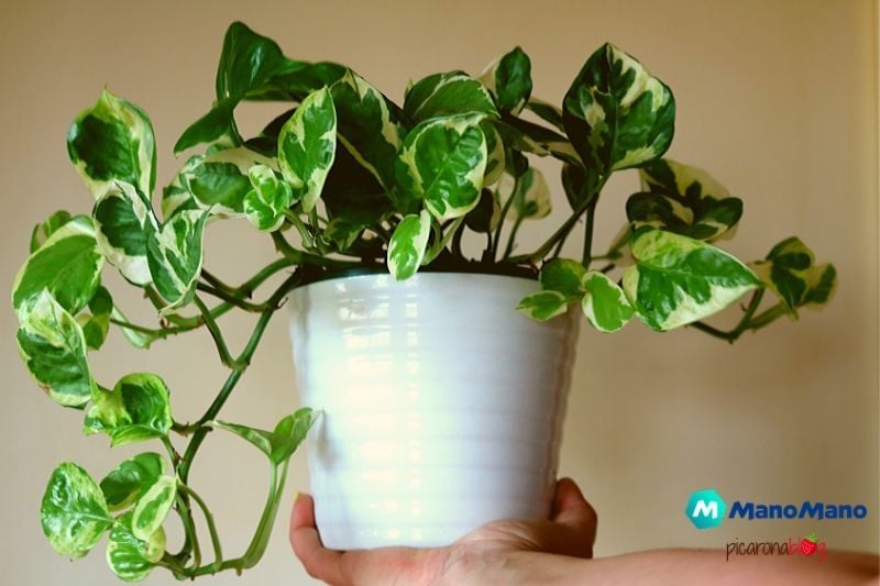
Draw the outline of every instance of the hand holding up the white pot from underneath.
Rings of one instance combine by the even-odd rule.
[[[549,520],[495,521],[446,548],[338,552],[321,545],[310,496],[297,498],[290,517],[306,572],[334,586],[547,583],[573,559],[592,557],[595,538],[596,513],[570,478],[557,483]]]

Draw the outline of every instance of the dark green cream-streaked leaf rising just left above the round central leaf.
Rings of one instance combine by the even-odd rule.
[[[397,107],[351,70],[330,86],[330,93],[339,141],[386,190],[391,189],[395,157],[406,135]]]

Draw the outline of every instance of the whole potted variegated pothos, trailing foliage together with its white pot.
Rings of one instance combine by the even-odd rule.
[[[246,100],[289,103],[245,140],[233,114]],[[41,508],[52,546],[79,557],[109,532],[108,563],[131,582],[156,566],[179,578],[251,567],[265,550],[289,457],[316,420],[312,480],[331,546],[431,544],[497,516],[541,515],[581,318],[601,332],[637,318],[657,331],[688,325],[733,342],[823,306],[834,290],[834,267],[816,264],[796,237],[748,265],[716,245],[733,234],[743,202],[705,172],[662,158],[674,109],[670,89],[610,44],[590,56],[561,108],[531,97],[519,48],[480,77],[448,71],[410,84],[397,106],[351,69],[289,59],[233,23],[217,100],[175,145],[198,154],[156,210],[150,119],[105,90],[67,137],[94,207],[35,226],[12,291],[18,343],[48,397],[84,411],[86,433],[105,433],[113,446],[157,441],[165,453],[125,460],[100,482],[74,463],[59,465]],[[521,253],[521,224],[550,209],[535,156],[561,163],[571,212],[542,245]],[[597,254],[602,188],[631,168],[642,189],[627,200],[619,235]],[[264,232],[278,253],[240,285],[204,266],[206,229],[234,219]],[[582,255],[561,257],[582,220]],[[125,318],[102,286],[108,264],[143,290],[156,324]],[[286,275],[280,285],[264,291],[278,274]],[[733,329],[702,321],[745,295]],[[309,407],[272,431],[218,419],[288,299]],[[217,321],[232,310],[255,319],[240,353]],[[205,413],[176,420],[155,374],[99,383],[88,353],[111,327],[141,349],[207,330],[229,375]],[[215,429],[240,435],[270,462],[264,512],[238,556],[222,551],[189,480]],[[448,518],[450,495],[466,498],[470,511]],[[163,530],[172,511],[185,534],[174,552]],[[378,527],[374,512],[392,524]],[[196,531],[197,515],[208,541]],[[438,519],[450,527],[425,533]]]

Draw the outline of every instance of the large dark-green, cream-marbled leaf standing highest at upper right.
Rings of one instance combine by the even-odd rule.
[[[667,152],[675,100],[638,60],[606,43],[590,56],[565,93],[563,122],[583,162],[607,175]]]

